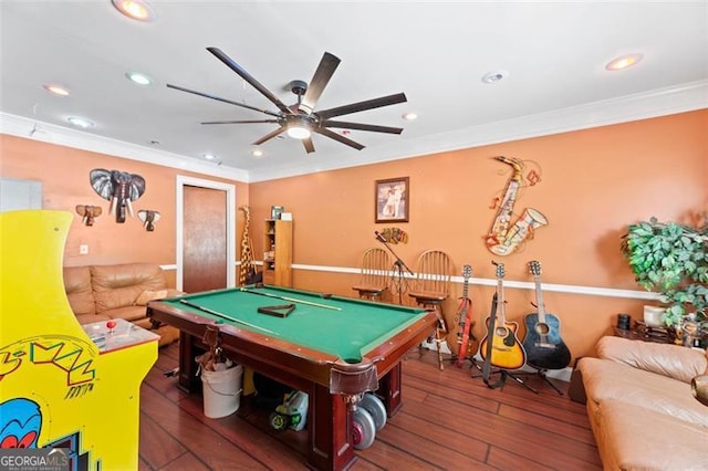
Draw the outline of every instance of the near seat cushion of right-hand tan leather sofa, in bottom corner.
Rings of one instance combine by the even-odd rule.
[[[701,426],[618,400],[603,401],[593,414],[606,470],[708,468],[708,429]]]

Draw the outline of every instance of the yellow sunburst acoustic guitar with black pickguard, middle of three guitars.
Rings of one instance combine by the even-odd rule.
[[[519,369],[527,360],[523,346],[517,337],[519,324],[507,322],[503,295],[503,263],[492,262],[497,265],[497,316],[490,328],[490,317],[487,317],[487,335],[479,346],[479,354],[485,362],[501,369]],[[491,348],[489,348],[491,343]],[[488,352],[490,352],[488,354]]]

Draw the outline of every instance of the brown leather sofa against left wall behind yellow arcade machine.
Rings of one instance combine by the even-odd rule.
[[[64,266],[64,290],[81,324],[119,317],[158,334],[160,346],[179,338],[178,329],[169,325],[155,326],[146,315],[148,301],[179,294],[167,287],[159,265]]]

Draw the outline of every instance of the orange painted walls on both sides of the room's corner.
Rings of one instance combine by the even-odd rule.
[[[486,282],[493,282],[492,259],[506,264],[507,281],[523,282],[531,281],[527,262],[535,259],[542,263],[544,283],[639,290],[620,255],[620,237],[627,223],[650,216],[687,220],[708,208],[707,124],[708,111],[699,111],[251,185],[0,135],[0,175],[42,180],[44,208],[72,212],[79,203],[101,205],[107,212],[107,201],[88,182],[93,168],[145,177],[147,191],[135,209],[162,212],[156,231],[146,232],[137,219],[108,223],[107,213],[86,228],[74,213],[65,252],[65,264],[71,265],[136,260],[174,264],[175,178],[191,175],[236,184],[237,207],[249,203],[252,209],[256,259],[262,253],[259,221],[269,217],[272,205],[281,205],[294,217],[295,264],[355,268],[364,249],[378,245],[374,230],[399,227],[409,242],[394,250],[414,270],[420,252],[442,249],[455,260],[457,273],[470,263],[472,276]],[[535,208],[549,219],[522,252],[503,258],[483,244],[496,216],[490,201],[502,196],[510,176],[508,166],[492,159],[498,155],[538,164],[542,180],[520,192],[514,210]],[[410,178],[410,222],[376,224],[374,181],[395,177]],[[242,216],[239,211],[239,237]],[[88,255],[79,255],[81,243],[90,245]],[[294,271],[296,287],[344,295],[354,294],[355,279],[346,273]],[[445,306],[449,314],[456,311],[461,286],[455,290]],[[493,286],[470,287],[477,337],[483,335],[492,293]],[[533,291],[507,287],[506,295],[510,320],[521,322],[533,311]],[[641,318],[645,304],[561,292],[546,292],[544,297],[546,311],[561,318],[561,333],[574,356],[592,354],[617,313]]]

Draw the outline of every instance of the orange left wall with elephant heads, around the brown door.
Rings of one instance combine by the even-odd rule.
[[[74,214],[64,250],[64,265],[67,266],[137,261],[160,265],[175,264],[177,175],[236,185],[237,207],[248,205],[248,185],[242,182],[9,135],[0,135],[0,176],[41,180],[42,207],[66,210]],[[115,222],[115,214],[108,213],[108,201],[101,198],[91,187],[88,174],[94,168],[128,171],[145,178],[145,193],[133,202],[134,218],[126,216],[124,223]],[[101,206],[103,214],[96,219],[94,226],[86,227],[82,224],[81,217],[74,210],[76,205]],[[143,222],[137,218],[139,209],[160,212],[155,231],[145,230]],[[238,211],[238,218],[237,234],[240,234],[242,211]],[[79,254],[80,244],[88,245],[87,255]],[[174,286],[175,273],[168,271],[166,275]]]

